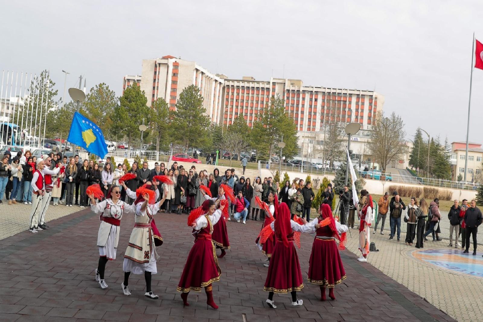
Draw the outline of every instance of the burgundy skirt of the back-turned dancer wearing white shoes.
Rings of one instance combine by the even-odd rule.
[[[264,291],[287,293],[303,288],[302,272],[298,263],[297,250],[293,242],[288,247],[277,242],[270,259],[269,272]]]

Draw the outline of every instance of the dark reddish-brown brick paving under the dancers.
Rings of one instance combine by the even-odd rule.
[[[357,262],[348,250],[341,252],[348,278],[336,287],[336,301],[321,302],[319,288],[306,284],[298,294],[303,306],[292,307],[290,295],[283,294],[275,295],[277,309],[268,308],[262,290],[267,268],[254,244],[261,222],[251,220],[227,223],[231,250],[219,261],[220,282],[213,283],[219,309],[207,309],[204,292],[191,292],[191,305],[184,308],[176,286],[193,237],[185,215],[159,214],[156,222],[165,241],[157,249],[161,258],[153,276],[159,300],[143,296],[143,276],[131,275],[131,296],[121,291],[132,216],[122,220],[117,260],[106,267],[106,290],[94,281],[99,219],[89,209],[50,221],[47,231],[3,239],[0,321],[455,321],[379,269]],[[313,237],[302,235],[301,242],[298,254],[306,278]]]

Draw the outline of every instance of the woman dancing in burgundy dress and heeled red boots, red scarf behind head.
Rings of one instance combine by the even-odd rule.
[[[181,298],[183,305],[189,306],[187,302],[189,291],[201,292],[205,288],[206,304],[217,309],[213,301],[212,283],[220,280],[221,270],[216,259],[215,248],[212,240],[213,226],[221,218],[225,205],[215,210],[216,204],[208,199],[203,202],[200,208],[193,210],[188,217],[188,224],[193,227],[195,234],[195,245],[191,248],[186,259],[185,268],[178,283],[178,292],[183,292]]]

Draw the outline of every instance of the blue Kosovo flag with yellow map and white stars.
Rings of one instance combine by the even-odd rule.
[[[94,153],[101,159],[107,154],[107,145],[99,127],[79,112],[74,113],[68,142],[82,146],[86,151]]]

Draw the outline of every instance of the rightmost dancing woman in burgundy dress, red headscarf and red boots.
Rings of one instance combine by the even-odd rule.
[[[334,220],[332,210],[327,204],[320,205],[319,214],[319,217],[310,223],[313,227],[312,233],[316,235],[310,254],[308,281],[320,286],[321,301],[326,300],[326,288],[329,289],[330,298],[335,300],[335,285],[347,278],[335,238],[339,239],[340,248],[344,249],[345,234],[343,233],[347,232],[348,227]],[[321,227],[320,222],[326,218],[330,219],[330,223]]]

